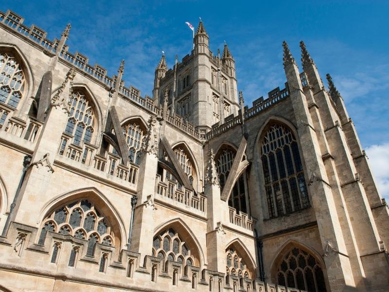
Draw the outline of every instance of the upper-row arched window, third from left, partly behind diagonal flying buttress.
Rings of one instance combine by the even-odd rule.
[[[128,146],[128,156],[134,164],[139,164],[140,151],[142,147],[143,130],[135,122],[131,122],[123,128],[125,141]]]

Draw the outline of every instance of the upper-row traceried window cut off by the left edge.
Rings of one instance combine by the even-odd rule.
[[[0,102],[18,107],[25,91],[25,78],[20,64],[11,53],[0,53]]]

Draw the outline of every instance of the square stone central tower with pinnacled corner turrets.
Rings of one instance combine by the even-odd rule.
[[[159,64],[165,63],[162,56]],[[159,66],[160,67],[160,66]],[[192,123],[200,134],[221,125],[227,117],[236,116],[239,110],[235,61],[227,44],[223,55],[209,49],[209,36],[200,21],[194,38],[194,50],[182,62],[166,71],[157,68],[154,82],[154,100],[163,105],[168,96],[170,115],[179,115]]]

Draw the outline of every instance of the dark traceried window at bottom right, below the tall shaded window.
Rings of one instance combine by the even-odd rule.
[[[293,248],[283,258],[277,271],[277,283],[309,292],[327,291],[321,264],[315,256],[299,248]]]

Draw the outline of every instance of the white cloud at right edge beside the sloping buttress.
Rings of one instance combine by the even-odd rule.
[[[389,143],[366,148],[369,163],[381,196],[389,202]]]

